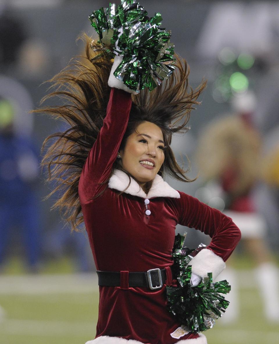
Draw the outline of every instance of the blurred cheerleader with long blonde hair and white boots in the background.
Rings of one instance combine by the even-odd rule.
[[[242,234],[242,243],[256,263],[255,277],[263,297],[265,317],[279,321],[278,269],[266,243],[267,225],[254,204],[254,187],[260,179],[261,137],[252,125],[251,93],[234,99],[236,114],[218,118],[201,135],[197,160],[205,185],[198,191],[200,200],[219,208],[231,217]],[[239,314],[237,274],[227,268],[220,278],[235,281],[227,299],[232,307],[224,322],[233,322]]]

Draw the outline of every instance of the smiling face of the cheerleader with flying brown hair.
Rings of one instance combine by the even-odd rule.
[[[154,123],[142,122],[120,150],[123,169],[140,184],[152,181],[164,162],[164,146],[161,129]]]

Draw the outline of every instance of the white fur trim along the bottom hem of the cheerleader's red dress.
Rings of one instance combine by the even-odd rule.
[[[178,341],[179,344],[207,344],[207,338],[204,334],[199,333],[199,338],[195,339],[182,339]],[[120,337],[100,336],[92,341],[88,341],[85,344],[143,344],[142,342],[135,341],[133,339],[125,339]]]

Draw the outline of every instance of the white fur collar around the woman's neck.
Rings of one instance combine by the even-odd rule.
[[[114,170],[113,174],[109,180],[109,188],[115,189],[118,191],[124,191],[129,184],[129,177],[127,174],[121,170]],[[146,194],[141,186],[131,178],[131,184],[129,187],[124,191],[124,193],[138,196],[142,198],[152,198],[152,197],[172,197],[172,198],[180,198],[179,192],[175,189],[172,189],[171,186],[167,182],[164,182],[163,178],[156,174],[152,186]]]

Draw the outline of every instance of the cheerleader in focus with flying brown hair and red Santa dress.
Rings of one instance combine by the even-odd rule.
[[[98,269],[99,319],[96,339],[88,344],[206,344],[203,334],[184,331],[166,308],[166,286],[175,285],[175,226],[212,238],[191,261],[192,287],[209,271],[216,278],[225,268],[240,232],[230,218],[162,178],[169,172],[192,181],[175,160],[171,135],[185,129],[205,83],[188,92],[186,61],[175,55],[168,81],[137,94],[113,74],[121,56],[112,62],[107,48],[89,38],[86,53],[86,63],[70,64],[52,79],[57,90],[46,98],[62,96],[65,104],[35,111],[70,123],[46,138],[45,143],[55,140],[43,165],[49,181],[57,182],[51,193],[60,194],[55,206],[73,229],[84,221]]]

